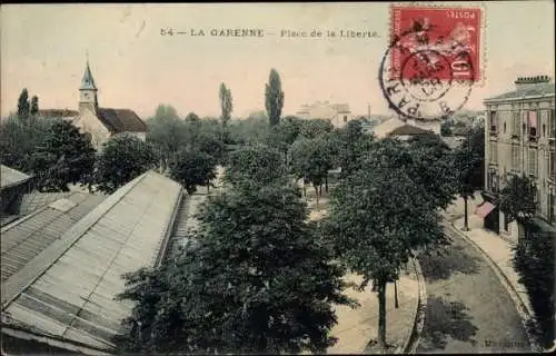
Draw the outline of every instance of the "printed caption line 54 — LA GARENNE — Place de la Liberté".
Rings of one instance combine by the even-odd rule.
[[[189,37],[279,37],[279,38],[378,38],[377,31],[355,29],[280,29],[265,30],[252,28],[209,28],[180,30],[161,28],[160,36]]]

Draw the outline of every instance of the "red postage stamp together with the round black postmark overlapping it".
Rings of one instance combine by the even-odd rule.
[[[480,72],[480,8],[393,6],[379,72],[389,107],[404,117],[441,119],[464,107]]]

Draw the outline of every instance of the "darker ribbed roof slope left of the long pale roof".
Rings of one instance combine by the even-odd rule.
[[[4,283],[44,248],[62,236],[73,224],[91,211],[105,195],[71,192],[34,214],[20,218],[1,229],[1,281]],[[71,206],[68,205],[68,201]],[[58,206],[57,206],[58,202]],[[60,209],[66,202],[68,209]]]

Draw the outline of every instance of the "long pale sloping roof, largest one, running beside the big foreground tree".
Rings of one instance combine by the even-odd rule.
[[[130,181],[2,283],[2,309],[31,332],[110,349],[132,304],[121,275],[153,266],[181,186],[155,171]]]

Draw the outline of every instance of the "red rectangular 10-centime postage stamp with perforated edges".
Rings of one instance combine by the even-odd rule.
[[[391,52],[398,78],[423,77],[435,70],[440,80],[479,81],[480,8],[391,7]]]

